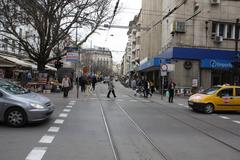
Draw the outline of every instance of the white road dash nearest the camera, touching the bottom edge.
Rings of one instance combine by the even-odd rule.
[[[47,151],[47,147],[35,147],[25,160],[41,160]]]

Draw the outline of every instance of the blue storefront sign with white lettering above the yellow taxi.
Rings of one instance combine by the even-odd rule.
[[[201,67],[213,69],[229,69],[233,68],[233,65],[232,62],[229,60],[203,59],[201,61]]]

